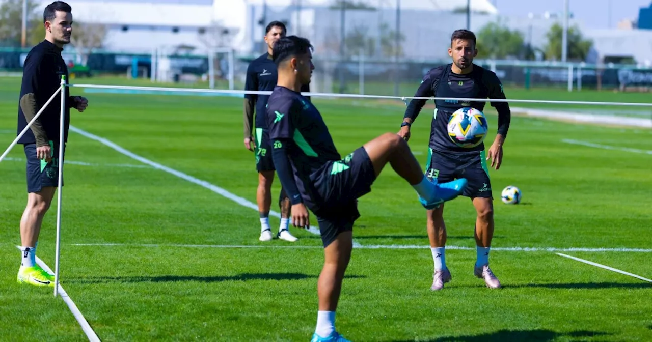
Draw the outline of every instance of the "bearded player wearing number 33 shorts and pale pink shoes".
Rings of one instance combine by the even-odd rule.
[[[452,63],[432,68],[424,76],[415,97],[445,98],[497,98],[505,99],[503,85],[496,74],[473,64],[475,35],[471,31],[454,31],[451,36],[449,55]],[[398,135],[406,141],[410,136],[410,125],[417,119],[426,100],[412,100],[406,109]],[[462,107],[473,107],[482,111],[485,102],[466,102],[457,100],[436,100],[430,131],[430,153],[426,164],[426,176],[438,182],[448,182],[454,178],[465,177],[468,186],[464,196],[470,197],[477,212],[475,221],[475,243],[477,259],[473,274],[484,279],[487,287],[496,289],[500,281],[489,268],[489,249],[494,235],[494,207],[489,170],[486,160],[496,170],[503,159],[503,143],[507,137],[511,113],[507,102],[492,102],[498,111],[496,139],[485,156],[484,144],[472,149],[455,145],[448,136],[447,124],[451,114]],[[451,272],[445,263],[446,226],[443,220],[444,205],[428,210],[427,226],[430,249],[434,259],[434,275],[431,289],[443,289],[444,283],[451,281]]]

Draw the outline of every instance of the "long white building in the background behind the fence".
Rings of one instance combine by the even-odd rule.
[[[203,53],[207,43],[228,44],[237,53],[259,53],[264,28],[281,20],[290,34],[301,34],[319,42],[322,31],[339,23],[339,10],[329,10],[334,0],[68,0],[75,21],[101,23],[108,27],[105,48],[113,51],[150,53],[160,46],[190,46]],[[42,1],[42,7],[52,1]],[[392,26],[396,0],[367,0],[378,20]],[[41,7],[41,8],[42,8]],[[461,11],[466,0],[402,0],[401,19],[406,29],[414,25],[409,12],[421,12],[424,25],[432,25],[428,13]],[[472,0],[474,13],[496,14],[488,0]],[[360,11],[348,10],[345,25],[363,20]],[[369,14],[370,12],[366,12]],[[464,16],[460,14],[460,16]],[[439,18],[439,16],[437,16]],[[364,19],[364,21],[368,21]],[[464,27],[458,20],[455,27]],[[301,23],[301,25],[299,25]],[[339,25],[339,24],[337,24]],[[426,30],[427,31],[427,30]],[[450,30],[448,30],[450,31]],[[339,31],[338,31],[339,32]],[[224,35],[224,33],[227,33]],[[448,34],[450,32],[447,32]],[[422,38],[422,37],[421,37]]]

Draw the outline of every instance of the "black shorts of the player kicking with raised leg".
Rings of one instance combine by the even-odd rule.
[[[357,199],[371,192],[375,180],[374,165],[363,147],[315,172],[319,203],[314,214],[324,248],[340,233],[353,230],[353,222],[360,217]]]

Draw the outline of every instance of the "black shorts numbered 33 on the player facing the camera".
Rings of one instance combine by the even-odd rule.
[[[484,151],[473,154],[429,151],[426,177],[430,180],[437,178],[438,183],[445,183],[466,178],[468,184],[462,196],[493,198]]]

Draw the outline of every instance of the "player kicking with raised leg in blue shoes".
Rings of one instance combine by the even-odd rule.
[[[385,164],[413,186],[426,208],[454,199],[466,186],[461,178],[434,184],[425,177],[398,135],[387,133],[364,144],[344,158],[315,106],[301,95],[310,83],[312,46],[305,38],[288,36],[274,44],[278,84],[269,97],[267,124],[273,144],[274,165],[291,203],[292,223],[308,227],[308,209],[319,223],[325,263],[318,281],[319,311],[312,341],[346,341],[334,328],[344,271],[352,248],[353,222],[359,218],[357,199]]]

